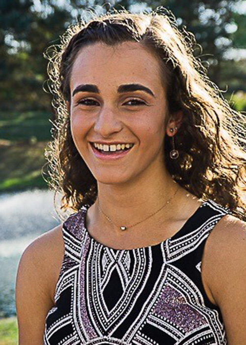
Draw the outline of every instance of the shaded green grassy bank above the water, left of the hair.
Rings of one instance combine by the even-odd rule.
[[[44,149],[52,140],[53,114],[0,111],[0,193],[47,189],[41,175]]]

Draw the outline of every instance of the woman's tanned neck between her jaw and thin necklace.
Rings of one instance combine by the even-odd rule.
[[[98,197],[101,210],[117,225],[130,226],[150,217],[158,219],[169,218],[177,206],[182,187],[178,185],[169,174],[152,176],[148,182],[139,177],[124,184],[103,184],[98,182]],[[115,227],[106,219],[105,215],[99,211],[98,200],[93,205],[94,218],[102,225],[112,229],[112,233],[121,232],[120,227]],[[167,203],[168,202],[168,203]],[[159,214],[158,214],[159,213]],[[141,226],[141,224],[139,224]]]

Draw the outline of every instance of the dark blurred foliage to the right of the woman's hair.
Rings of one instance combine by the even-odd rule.
[[[163,5],[176,16],[178,24],[194,33],[202,46],[202,60],[209,63],[209,76],[228,93],[245,90],[246,50],[246,1],[217,0],[160,0],[146,1],[149,5]],[[242,12],[243,7],[245,13]],[[240,53],[245,54],[242,63],[235,63]],[[241,65],[242,64],[242,65]],[[243,66],[244,65],[244,66]],[[231,84],[228,72],[233,79]]]

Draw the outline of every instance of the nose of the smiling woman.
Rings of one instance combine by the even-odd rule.
[[[94,131],[102,137],[108,137],[114,132],[119,132],[122,129],[122,123],[116,110],[109,107],[102,108],[98,113]]]

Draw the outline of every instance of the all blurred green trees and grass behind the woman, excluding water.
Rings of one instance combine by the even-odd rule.
[[[179,26],[194,33],[196,56],[237,110],[246,110],[246,0],[1,0],[0,1],[0,194],[47,189],[41,176],[44,148],[54,120],[44,50],[86,9],[109,7],[139,12],[159,5],[172,10]],[[0,301],[1,304],[1,301]],[[0,345],[16,344],[15,318],[0,313]]]

